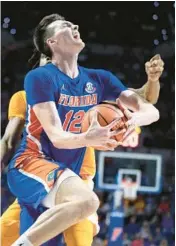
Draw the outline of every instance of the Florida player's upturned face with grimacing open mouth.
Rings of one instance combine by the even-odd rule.
[[[78,54],[85,46],[80,38],[78,26],[65,20],[57,20],[48,27],[54,30],[54,35],[47,40],[53,52]]]

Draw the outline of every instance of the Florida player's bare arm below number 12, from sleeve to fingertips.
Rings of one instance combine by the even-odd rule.
[[[101,127],[95,113],[87,132],[74,134],[63,130],[54,102],[38,103],[33,106],[33,110],[50,141],[56,148],[75,149],[88,146],[102,146],[107,147],[109,150],[114,150],[117,146],[117,141],[111,139],[111,137],[118,133],[120,134],[121,131],[111,131],[111,129],[117,125],[120,119],[114,120],[106,127]]]

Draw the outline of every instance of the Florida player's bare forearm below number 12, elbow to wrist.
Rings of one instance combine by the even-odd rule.
[[[74,134],[53,128],[49,138],[54,147],[59,149],[77,149],[87,146],[86,133]]]

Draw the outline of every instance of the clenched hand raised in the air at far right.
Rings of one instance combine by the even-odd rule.
[[[164,62],[160,55],[155,55],[150,61],[145,63],[145,71],[148,75],[148,80],[157,82],[164,70]]]

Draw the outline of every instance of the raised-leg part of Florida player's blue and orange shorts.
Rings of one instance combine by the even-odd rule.
[[[63,168],[55,162],[30,158],[8,171],[8,185],[20,204],[37,209],[62,172]]]

